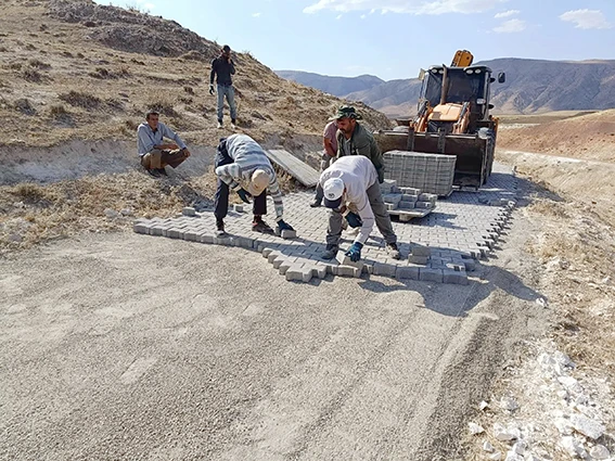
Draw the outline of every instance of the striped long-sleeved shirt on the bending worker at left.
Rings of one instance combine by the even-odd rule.
[[[247,189],[252,174],[262,169],[269,175],[269,187],[267,190],[273,199],[277,220],[282,219],[284,207],[282,205],[282,192],[278,185],[278,177],[271,166],[267,154],[258,143],[246,135],[231,135],[227,138],[227,151],[234,161],[232,164],[216,168],[216,175],[233,190],[243,187]]]

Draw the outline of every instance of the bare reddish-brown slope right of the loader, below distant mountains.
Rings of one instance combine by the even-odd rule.
[[[516,119],[522,124],[522,118]],[[533,123],[531,119],[525,120]],[[498,148],[599,162],[615,162],[615,110],[498,132]]]

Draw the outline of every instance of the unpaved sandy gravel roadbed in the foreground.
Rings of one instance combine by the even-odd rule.
[[[449,460],[547,326],[518,239],[470,286],[291,284],[255,253],[132,233],[12,254],[0,458]]]

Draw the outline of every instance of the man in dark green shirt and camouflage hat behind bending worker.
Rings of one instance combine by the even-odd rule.
[[[357,120],[361,116],[355,107],[343,105],[333,119],[337,120],[337,158],[346,155],[368,157],[377,172],[377,181],[384,181],[384,161],[374,137]]]

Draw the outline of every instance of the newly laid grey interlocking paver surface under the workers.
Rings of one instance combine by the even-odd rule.
[[[390,184],[383,184],[388,189]],[[405,191],[405,193],[414,191]],[[417,194],[419,195],[419,194]],[[345,232],[337,258],[323,260],[328,210],[310,208],[313,193],[300,192],[284,197],[284,220],[296,231],[283,235],[267,235],[252,231],[249,206],[231,210],[225,220],[228,235],[216,236],[213,213],[176,218],[137,219],[134,232],[183,239],[191,242],[240,246],[260,252],[268,262],[289,281],[309,282],[326,274],[361,277],[362,273],[397,279],[423,280],[438,283],[467,284],[467,272],[475,268],[475,259],[487,258],[516,204],[516,179],[511,169],[494,165],[494,172],[479,191],[456,191],[437,202],[432,214],[411,222],[396,222],[401,260],[390,258],[384,240],[375,229],[362,249],[360,262],[349,262],[344,252],[354,241]],[[433,201],[431,196],[423,196]],[[427,202],[425,200],[425,202]],[[235,209],[239,209],[235,208]],[[185,214],[185,212],[184,212]],[[192,212],[189,213],[192,215]],[[267,217],[266,217],[267,218]],[[267,219],[266,219],[267,220]],[[269,223],[273,227],[272,217]]]

